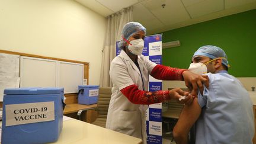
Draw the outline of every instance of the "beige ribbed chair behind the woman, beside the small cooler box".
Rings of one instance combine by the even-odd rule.
[[[92,122],[92,124],[105,128],[110,97],[111,87],[101,87],[99,89],[99,97],[96,108],[96,111],[98,111],[98,117],[94,122]]]

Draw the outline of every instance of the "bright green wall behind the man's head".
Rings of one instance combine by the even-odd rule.
[[[163,65],[188,68],[194,52],[210,44],[225,50],[231,75],[256,77],[256,9],[163,33],[163,43],[174,40],[181,46],[162,50]]]

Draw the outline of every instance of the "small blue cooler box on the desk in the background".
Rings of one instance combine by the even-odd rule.
[[[79,85],[78,104],[96,104],[98,102],[98,85]]]

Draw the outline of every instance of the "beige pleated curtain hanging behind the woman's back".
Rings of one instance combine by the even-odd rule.
[[[116,56],[116,41],[121,40],[121,31],[126,23],[132,21],[132,7],[124,8],[107,17],[103,59],[101,62],[100,87],[112,87],[109,76],[110,63]]]

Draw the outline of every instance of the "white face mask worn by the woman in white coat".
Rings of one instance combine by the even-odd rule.
[[[142,39],[131,40],[128,46],[128,50],[134,55],[142,55],[144,47],[144,41]]]

